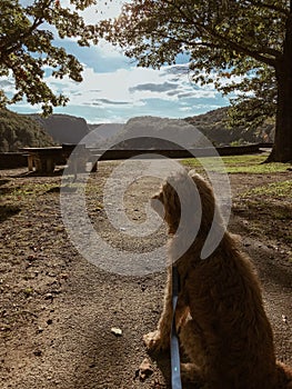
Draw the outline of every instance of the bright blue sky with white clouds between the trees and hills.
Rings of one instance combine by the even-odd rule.
[[[114,17],[119,8],[120,1],[113,0],[103,7],[102,16]],[[100,14],[95,11],[97,7],[83,12],[84,19],[95,22]],[[57,37],[56,44],[74,54],[84,69],[81,83],[47,77],[46,81],[54,92],[70,98],[68,106],[57,108],[56,113],[83,117],[90,123],[125,122],[137,116],[185,118],[229,104],[213,86],[199,88],[190,81],[187,57],[180,56],[175,66],[153,70],[138,68],[119,48],[105,42],[80,48],[72,40],[58,40]],[[39,107],[26,102],[10,109],[21,113],[40,111]]]

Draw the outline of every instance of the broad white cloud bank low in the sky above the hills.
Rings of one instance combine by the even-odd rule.
[[[170,67],[160,71],[127,67],[101,73],[84,66],[81,83],[53,77],[46,81],[56,93],[70,98],[69,104],[56,112],[81,116],[89,122],[124,122],[144,114],[183,118],[228,103],[210,86],[194,88],[188,74],[174,79]],[[24,102],[18,104],[18,109],[32,110]],[[36,109],[39,111],[40,107]]]

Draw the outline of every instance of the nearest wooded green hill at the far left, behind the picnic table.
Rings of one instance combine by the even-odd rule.
[[[52,137],[31,118],[0,109],[0,152],[18,151],[22,147],[53,144]]]

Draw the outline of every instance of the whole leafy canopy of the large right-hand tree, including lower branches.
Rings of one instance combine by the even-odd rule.
[[[278,134],[283,138],[282,122],[290,150],[280,157],[276,136],[275,158],[292,159],[292,117],[282,120],[284,101],[292,102],[286,82],[292,73],[291,0],[132,0],[119,18],[99,28],[101,37],[142,67],[173,64],[179,53],[188,53],[194,82],[242,92],[233,101],[233,120],[246,118],[244,112],[250,123],[276,114]]]

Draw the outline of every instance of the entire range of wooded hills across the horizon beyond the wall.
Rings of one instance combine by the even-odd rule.
[[[79,143],[88,133],[92,134],[94,147],[108,148],[131,137],[141,137],[120,143],[130,148],[173,148],[165,139],[177,139],[188,147],[202,146],[201,140],[193,139],[195,129],[202,132],[213,144],[243,144],[272,141],[273,120],[266,121],[256,131],[241,128],[226,128],[228,108],[189,117],[168,119],[159,117],[137,117],[125,124],[104,123],[88,124],[83,118],[69,114],[52,114],[42,118],[38,114],[18,114],[7,109],[0,110],[0,152],[18,151],[21,147],[46,147],[61,143]],[[191,132],[192,131],[192,132]],[[147,139],[147,137],[152,139]],[[177,138],[175,138],[177,137]],[[158,138],[161,138],[160,140]]]

